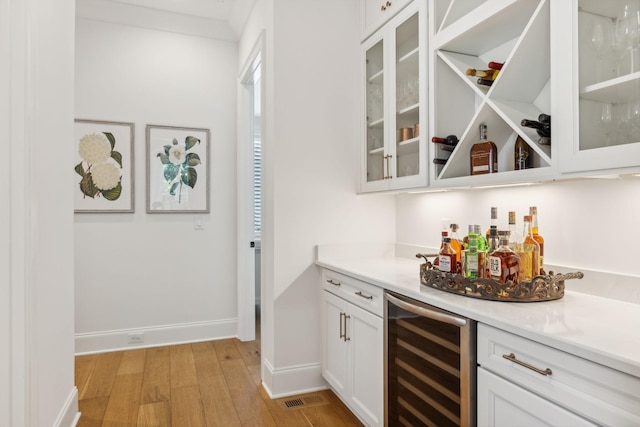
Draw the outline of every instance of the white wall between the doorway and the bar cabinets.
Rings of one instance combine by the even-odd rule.
[[[262,344],[274,395],[324,385],[315,245],[395,240],[393,196],[356,195],[356,23],[355,0],[262,0],[240,40],[243,64],[266,32]]]

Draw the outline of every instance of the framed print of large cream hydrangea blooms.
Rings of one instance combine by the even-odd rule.
[[[75,213],[132,213],[135,125],[74,120]]]

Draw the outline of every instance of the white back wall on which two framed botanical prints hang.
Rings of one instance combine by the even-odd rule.
[[[237,44],[76,25],[76,117],[135,123],[135,213],[75,216],[76,350],[235,336]],[[210,214],[145,213],[147,124],[211,130]]]

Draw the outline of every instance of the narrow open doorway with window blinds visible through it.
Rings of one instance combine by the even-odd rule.
[[[258,343],[262,313],[262,40],[240,75],[238,131],[238,338]]]

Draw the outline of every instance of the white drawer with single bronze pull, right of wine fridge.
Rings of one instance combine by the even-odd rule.
[[[598,424],[640,425],[640,378],[484,324],[477,342],[478,364],[508,381]]]

